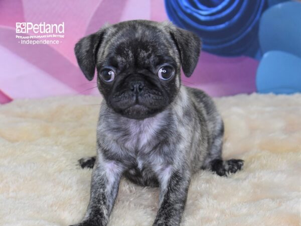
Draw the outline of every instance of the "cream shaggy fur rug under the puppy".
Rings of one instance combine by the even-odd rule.
[[[194,175],[182,225],[300,225],[301,94],[215,99],[225,121],[228,178]],[[100,97],[0,105],[0,225],[68,225],[85,213]],[[109,225],[151,225],[158,189],[121,181]]]

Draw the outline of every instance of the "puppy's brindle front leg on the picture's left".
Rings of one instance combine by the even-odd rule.
[[[74,226],[103,226],[108,223],[122,172],[120,163],[96,159],[88,209],[82,222]]]

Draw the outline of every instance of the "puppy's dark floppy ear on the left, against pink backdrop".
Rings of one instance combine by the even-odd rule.
[[[88,35],[76,43],[74,52],[77,59],[77,63],[86,76],[91,81],[95,73],[96,54],[100,47],[104,29]]]

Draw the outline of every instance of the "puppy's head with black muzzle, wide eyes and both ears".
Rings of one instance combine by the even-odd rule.
[[[196,67],[200,39],[170,23],[127,21],[105,26],[75,46],[78,64],[97,84],[106,103],[131,119],[163,111],[177,96],[181,66],[189,77]]]

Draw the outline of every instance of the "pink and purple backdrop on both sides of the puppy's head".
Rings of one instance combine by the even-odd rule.
[[[97,95],[95,83],[82,75],[75,43],[105,23],[145,19],[168,20],[163,0],[1,0],[0,103],[15,98],[53,95]],[[65,24],[58,45],[25,45],[16,38],[16,22]],[[29,34],[30,35],[30,34]],[[191,78],[183,83],[213,96],[255,91],[258,62],[249,57],[226,58],[206,52]],[[94,80],[95,81],[95,80]]]

